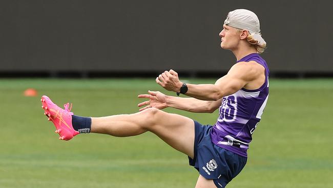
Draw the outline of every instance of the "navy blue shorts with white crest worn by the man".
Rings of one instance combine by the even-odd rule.
[[[194,121],[194,126],[194,159],[189,157],[190,165],[201,176],[213,179],[217,187],[224,188],[240,173],[247,158],[215,145],[210,135],[212,126],[201,125],[197,121]]]

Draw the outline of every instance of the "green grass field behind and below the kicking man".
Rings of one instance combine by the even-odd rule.
[[[248,162],[227,187],[333,187],[333,80],[270,80],[269,86]],[[23,96],[29,87],[38,97]],[[0,80],[0,187],[194,187],[198,173],[187,157],[155,135],[60,141],[39,101],[48,95],[59,105],[72,102],[81,116],[129,114],[148,89],[163,91],[154,79]],[[202,124],[214,124],[218,114],[165,111]]]

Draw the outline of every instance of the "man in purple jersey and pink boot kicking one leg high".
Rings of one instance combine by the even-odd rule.
[[[173,70],[156,78],[163,88],[192,98],[149,91],[139,95],[149,100],[139,104],[144,107],[136,114],[89,118],[73,115],[69,103],[62,109],[43,96],[45,115],[56,126],[61,140],[70,140],[79,133],[128,137],[151,131],[189,156],[190,165],[199,171],[196,188],[225,187],[246,163],[248,145],[268,99],[269,70],[259,55],[266,42],[255,13],[245,9],[229,12],[219,35],[221,48],[231,50],[237,62],[215,84],[182,83]],[[160,110],[166,107],[192,112],[219,108],[219,117],[213,126],[203,126]]]

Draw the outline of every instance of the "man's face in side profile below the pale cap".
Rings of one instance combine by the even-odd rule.
[[[240,32],[234,27],[223,25],[223,30],[220,32],[221,48],[233,50],[237,48],[240,41]]]

